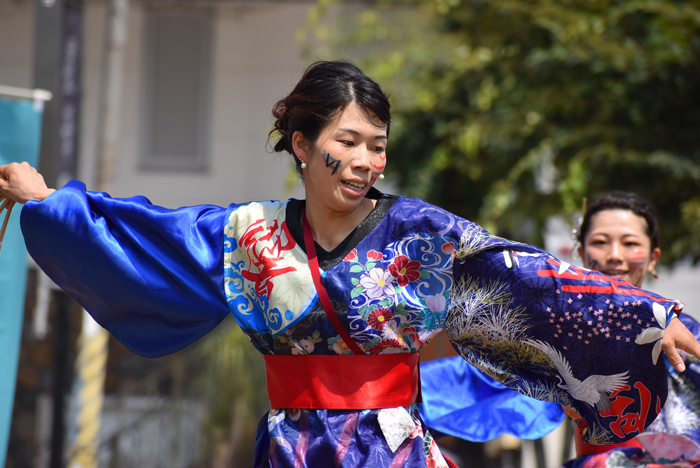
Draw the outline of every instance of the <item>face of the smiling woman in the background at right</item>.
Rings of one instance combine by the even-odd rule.
[[[646,220],[629,210],[600,211],[591,218],[579,254],[584,266],[641,287],[661,255],[651,250]]]

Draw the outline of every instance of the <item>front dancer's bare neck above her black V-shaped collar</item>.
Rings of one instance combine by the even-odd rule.
[[[309,221],[314,241],[326,252],[340,245],[374,209],[376,200],[365,198],[351,212],[338,212],[328,209],[322,202],[306,200],[306,219]]]

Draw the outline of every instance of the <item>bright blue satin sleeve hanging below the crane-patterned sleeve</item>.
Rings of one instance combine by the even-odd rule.
[[[461,356],[421,363],[420,372],[423,402],[418,409],[433,432],[472,442],[504,433],[538,439],[564,420],[560,405],[514,392]]]

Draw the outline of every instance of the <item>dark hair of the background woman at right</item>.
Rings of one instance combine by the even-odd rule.
[[[586,234],[591,228],[591,218],[596,213],[606,210],[629,210],[637,216],[641,216],[647,222],[647,236],[651,240],[651,250],[659,246],[659,221],[656,218],[656,210],[645,199],[630,192],[606,192],[596,201],[588,205],[581,228],[578,230],[578,241],[584,245]],[[585,247],[584,247],[585,249]]]

